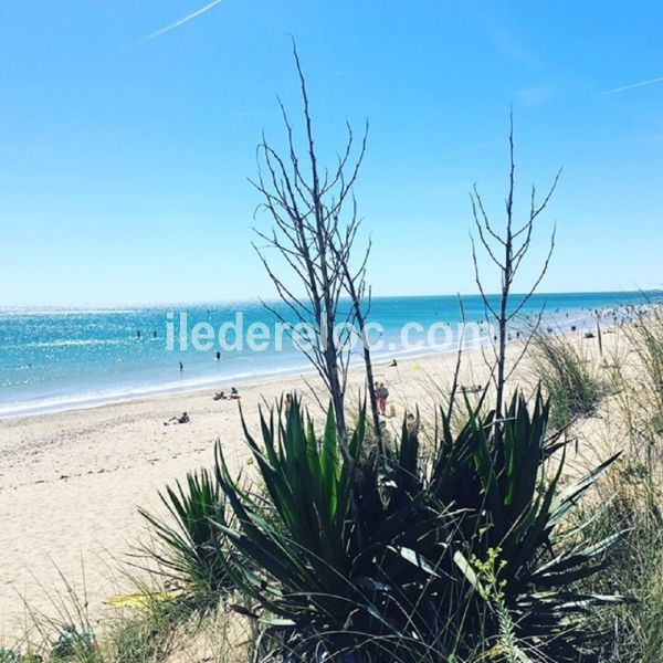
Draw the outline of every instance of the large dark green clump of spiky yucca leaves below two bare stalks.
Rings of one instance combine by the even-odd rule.
[[[565,516],[617,456],[561,491],[565,442],[548,434],[540,392],[532,408],[513,398],[499,443],[494,413],[466,406],[459,433],[442,413],[430,465],[407,419],[383,456],[362,454],[361,411],[344,459],[332,409],[320,438],[298,402],[285,421],[272,411],[262,444],[245,428],[262,493],[240,485],[218,445],[219,528],[239,556],[224,562],[262,607],[265,661],[432,663],[505,646],[580,660],[583,612],[623,600],[581,590],[620,534],[587,543]],[[491,555],[496,591],[475,570]]]

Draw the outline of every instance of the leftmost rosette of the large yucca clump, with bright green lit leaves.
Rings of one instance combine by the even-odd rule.
[[[246,593],[290,620],[298,634],[341,630],[358,592],[351,582],[352,470],[341,462],[333,411],[319,444],[297,401],[286,424],[272,412],[269,421],[261,414],[261,427],[262,446],[245,424],[244,431],[267,499],[242,488],[217,445],[217,478],[239,525],[224,520],[222,530],[262,572],[241,562],[229,569]],[[362,427],[360,417],[348,442],[354,461]]]

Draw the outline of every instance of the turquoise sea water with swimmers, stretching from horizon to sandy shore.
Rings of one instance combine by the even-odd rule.
[[[523,320],[535,316],[545,304],[546,328],[575,326],[582,330],[596,326],[596,312],[602,312],[604,323],[612,324],[627,315],[629,306],[643,303],[643,295],[634,292],[537,294],[523,308],[519,319],[526,324]],[[281,305],[275,306],[287,317]],[[463,307],[467,323],[484,324],[481,297],[464,296]],[[173,337],[179,341],[182,313],[187,314],[189,332],[197,323],[207,323],[217,333],[224,323],[236,322],[238,313],[244,329],[254,323],[273,328],[276,322],[259,302],[112,309],[0,308],[0,418],[202,387],[224,388],[309,370],[299,350],[287,343],[276,350],[274,338],[262,351],[245,344],[228,350],[219,345],[218,336],[206,344],[210,347],[203,351],[190,343],[186,349],[179,343],[169,349],[169,333],[170,341]],[[376,359],[388,360],[455,349],[454,329],[461,315],[454,296],[380,297],[372,302],[370,319],[381,327],[378,336],[383,347],[376,350]],[[417,347],[403,348],[401,330],[408,323],[414,324],[414,330],[417,325],[429,329],[444,323],[453,337],[441,347],[431,347],[425,334],[420,333]],[[482,329],[484,340],[490,340],[487,327]],[[514,330],[514,337],[516,334]],[[227,334],[227,340],[232,343],[232,332]]]

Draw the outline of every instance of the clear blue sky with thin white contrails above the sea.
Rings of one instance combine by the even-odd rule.
[[[0,305],[273,295],[251,249],[262,130],[320,151],[368,117],[357,187],[373,292],[475,292],[469,191],[503,218],[508,107],[519,200],[564,175],[541,290],[663,283],[663,7],[560,0],[0,4]],[[522,206],[520,210],[524,209]],[[490,290],[496,290],[497,283]]]

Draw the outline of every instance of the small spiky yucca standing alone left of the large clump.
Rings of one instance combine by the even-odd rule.
[[[223,564],[219,528],[225,508],[223,492],[207,470],[187,474],[186,485],[159,493],[172,522],[139,509],[157,538],[147,549],[159,572],[199,607],[212,606],[234,588]]]

